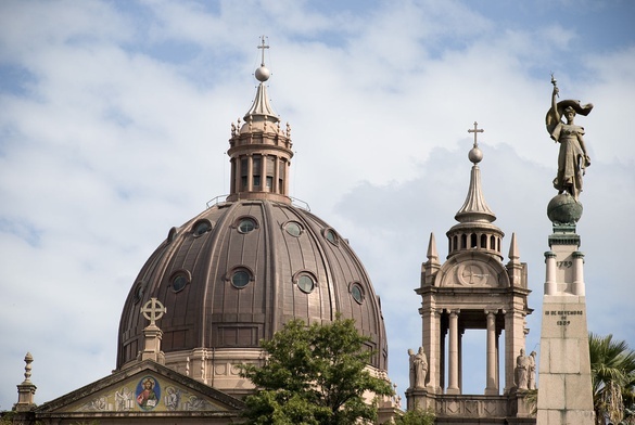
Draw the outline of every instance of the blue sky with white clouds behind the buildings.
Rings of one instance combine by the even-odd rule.
[[[0,409],[26,351],[38,403],[115,366],[139,269],[229,190],[230,124],[251,106],[263,34],[296,151],[292,195],[368,269],[399,391],[420,345],[420,265],[431,232],[447,253],[474,120],[504,252],[516,232],[529,265],[528,350],[539,342],[551,72],[563,99],[595,104],[577,119],[592,157],[579,223],[589,330],[635,346],[634,21],[618,0],[0,2]],[[484,336],[465,344],[463,381],[480,392]]]

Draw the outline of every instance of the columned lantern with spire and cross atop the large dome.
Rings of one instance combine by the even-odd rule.
[[[231,163],[231,190],[227,201],[270,199],[291,204],[289,197],[289,167],[293,151],[291,127],[280,128],[280,118],[269,102],[266,81],[271,73],[265,66],[265,36],[261,38],[261,66],[254,73],[259,81],[252,107],[244,123],[231,125],[227,154]]]

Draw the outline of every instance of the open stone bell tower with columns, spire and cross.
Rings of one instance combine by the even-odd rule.
[[[518,385],[515,373],[529,332],[525,317],[532,312],[528,307],[531,291],[526,265],[520,261],[516,234],[511,236],[508,261],[504,262],[505,233],[493,223],[496,215],[481,189],[479,163],[483,153],[477,137],[483,130],[474,123],[468,131],[474,134],[468,155],[472,163],[470,185],[455,216],[458,223],[446,233],[447,259],[440,261],[431,234],[421,285],[416,289],[421,296],[421,347],[428,370],[423,372],[423,387],[411,383],[406,391],[407,407],[431,408],[437,423],[443,424],[468,424],[469,418],[473,423],[483,423],[484,418],[493,424],[535,423],[523,401],[529,387],[526,383]],[[478,395],[465,394],[462,385],[463,359],[483,357],[462,349],[462,335],[468,330],[486,331],[485,364],[479,368],[483,371],[483,390]],[[504,364],[499,361],[501,350]]]

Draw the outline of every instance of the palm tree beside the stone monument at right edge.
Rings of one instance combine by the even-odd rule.
[[[635,408],[635,351],[613,335],[593,333],[588,347],[596,423],[635,423],[630,414]]]

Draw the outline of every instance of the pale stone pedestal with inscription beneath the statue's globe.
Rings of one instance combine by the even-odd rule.
[[[555,199],[579,205],[563,195]],[[584,254],[579,246],[574,224],[554,223],[551,250],[545,253],[537,425],[594,425]]]

